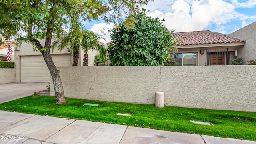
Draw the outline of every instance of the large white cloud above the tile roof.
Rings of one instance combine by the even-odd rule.
[[[211,24],[226,24],[236,17],[234,6],[222,0],[176,0],[171,8],[172,13],[154,11],[148,15],[164,18],[167,28],[176,29],[175,32],[203,30]]]

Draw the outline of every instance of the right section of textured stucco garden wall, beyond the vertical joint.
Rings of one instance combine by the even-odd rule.
[[[255,66],[161,68],[167,106],[256,111]]]

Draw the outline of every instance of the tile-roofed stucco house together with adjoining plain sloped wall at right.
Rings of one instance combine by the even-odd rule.
[[[230,65],[233,58],[256,59],[256,22],[231,34],[208,30],[173,33],[178,52],[171,56],[180,66]]]

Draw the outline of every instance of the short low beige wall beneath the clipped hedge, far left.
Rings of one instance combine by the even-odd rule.
[[[0,84],[16,82],[16,69],[0,68]]]

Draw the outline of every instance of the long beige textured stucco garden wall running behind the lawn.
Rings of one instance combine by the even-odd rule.
[[[256,66],[97,66],[58,70],[66,97],[154,104],[154,93],[160,90],[166,106],[256,112]]]

